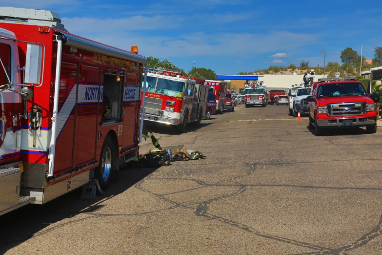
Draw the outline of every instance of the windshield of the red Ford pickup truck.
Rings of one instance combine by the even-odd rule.
[[[322,84],[317,92],[317,98],[366,95],[367,93],[360,83]]]

